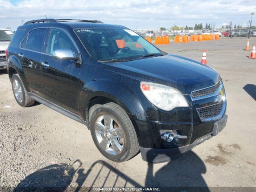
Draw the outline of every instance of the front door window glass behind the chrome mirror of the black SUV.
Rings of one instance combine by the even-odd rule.
[[[52,55],[53,51],[57,49],[70,49],[74,55],[77,54],[74,43],[64,31],[51,29],[48,38],[47,53]]]

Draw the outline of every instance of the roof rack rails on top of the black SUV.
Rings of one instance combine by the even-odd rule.
[[[98,20],[82,20],[82,19],[38,19],[38,20],[31,20],[24,25],[28,24],[35,24],[35,23],[59,23],[59,22],[88,22],[88,23],[103,23]]]

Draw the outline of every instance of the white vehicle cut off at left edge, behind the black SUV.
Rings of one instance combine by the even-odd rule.
[[[12,36],[12,31],[0,28],[0,70],[7,69],[5,50],[8,48]]]

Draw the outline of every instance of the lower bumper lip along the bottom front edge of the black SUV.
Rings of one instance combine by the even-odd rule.
[[[220,120],[214,122],[212,127],[212,132],[196,139],[192,144],[188,144],[186,146],[181,146],[177,148],[169,148],[169,149],[140,147],[140,153],[141,153],[142,159],[144,161],[152,162],[152,163],[170,161],[173,158],[178,157],[180,154],[184,154],[188,152],[189,150],[191,150],[198,144],[201,144],[205,140],[208,140],[213,136],[216,136],[226,126],[227,118],[228,116],[224,115]]]

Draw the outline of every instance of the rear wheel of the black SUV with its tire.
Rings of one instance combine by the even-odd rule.
[[[18,93],[15,88],[19,90]],[[12,92],[14,94],[16,102],[22,107],[31,106],[35,102],[34,99],[28,96],[28,92],[26,91],[24,84],[22,83],[18,74],[14,74],[12,76]]]

